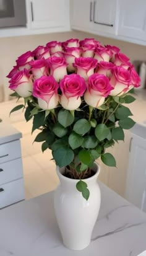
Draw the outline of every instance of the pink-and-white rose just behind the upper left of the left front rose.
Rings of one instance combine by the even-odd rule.
[[[48,74],[48,63],[45,59],[30,61],[31,71],[33,74],[33,79],[36,80],[41,76]]]

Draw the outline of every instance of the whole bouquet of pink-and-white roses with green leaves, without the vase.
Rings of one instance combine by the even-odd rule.
[[[88,199],[83,179],[92,175],[95,159],[116,166],[106,148],[124,140],[123,129],[134,121],[127,93],[139,87],[134,66],[119,48],[101,45],[93,38],[49,42],[21,55],[7,77],[13,95],[24,97],[26,120],[33,118],[32,132],[42,151],[51,149],[67,177],[79,179],[77,189]]]

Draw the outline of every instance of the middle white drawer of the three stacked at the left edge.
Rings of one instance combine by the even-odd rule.
[[[0,184],[11,182],[23,177],[22,159],[15,159],[0,164]]]

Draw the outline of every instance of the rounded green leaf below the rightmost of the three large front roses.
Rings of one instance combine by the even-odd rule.
[[[107,138],[109,133],[109,128],[103,123],[97,125],[97,127],[95,128],[95,136],[99,139],[99,141],[103,141],[103,139]]]

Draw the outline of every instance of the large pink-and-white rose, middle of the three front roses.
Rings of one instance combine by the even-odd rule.
[[[61,105],[67,110],[75,110],[81,104],[80,96],[84,95],[87,89],[84,78],[79,74],[70,74],[64,76],[60,81],[62,95],[60,98]]]

